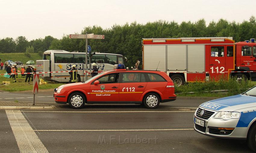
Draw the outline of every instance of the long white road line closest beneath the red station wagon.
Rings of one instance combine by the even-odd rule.
[[[47,113],[173,113],[195,111],[23,111],[23,112],[47,112]]]

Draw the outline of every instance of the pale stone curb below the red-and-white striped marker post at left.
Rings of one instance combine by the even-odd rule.
[[[43,107],[37,107],[37,106],[0,106],[0,109],[12,109],[12,110],[53,110],[56,109],[55,106],[43,106]]]

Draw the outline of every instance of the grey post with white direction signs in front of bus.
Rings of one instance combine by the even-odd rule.
[[[88,34],[88,32],[86,32],[85,35],[78,35],[78,34],[70,34],[69,38],[73,38],[73,39],[86,39],[85,41],[85,52],[88,54],[87,50],[91,51],[91,47],[89,48],[88,46],[88,39],[105,39],[105,35],[94,35],[93,33]],[[88,63],[87,63],[87,54],[85,54],[85,80],[87,81],[87,72],[88,72]],[[91,63],[91,59],[90,62]],[[91,71],[91,64],[90,64],[90,71]]]

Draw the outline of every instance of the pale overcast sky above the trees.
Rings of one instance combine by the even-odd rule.
[[[208,24],[223,18],[242,23],[254,15],[255,6],[254,1],[241,0],[0,0],[0,39],[25,36],[30,41],[48,35],[60,39],[87,26],[107,29],[134,21],[180,24],[204,18]]]

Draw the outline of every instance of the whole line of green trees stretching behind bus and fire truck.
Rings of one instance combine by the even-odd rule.
[[[158,20],[146,24],[115,24],[108,29],[89,26],[80,34],[86,32],[105,35],[103,40],[89,39],[92,52],[121,54],[127,57],[127,66],[133,66],[137,60],[142,61],[142,38],[233,37],[236,42],[245,41],[256,37],[256,21],[254,16],[242,23],[220,19],[217,22],[211,21],[208,25],[204,19],[194,23],[184,21],[180,24],[175,21]],[[63,35],[61,39],[46,36],[44,39],[32,41],[27,41],[23,36],[15,40],[4,38],[0,41],[0,52],[25,52],[29,46],[33,46],[34,52],[49,49],[85,52],[85,39],[70,39],[69,35]]]

